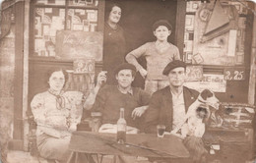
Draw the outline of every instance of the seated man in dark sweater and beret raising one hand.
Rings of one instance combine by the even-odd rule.
[[[102,85],[102,81],[105,81],[105,73],[99,73],[97,77],[97,83],[95,92],[91,93],[84,107],[86,109],[93,109],[102,113],[101,123],[114,125],[117,123],[120,115],[120,108],[124,108],[124,118],[133,132],[138,133],[141,126],[141,121],[138,117],[147,110],[150,99],[150,94],[138,87],[132,87],[132,81],[134,81],[136,68],[131,64],[121,64],[114,71],[117,85]],[[98,93],[97,93],[98,91]],[[108,127],[109,127],[108,126]],[[99,129],[100,130],[100,129]],[[112,128],[113,132],[114,128]],[[99,131],[100,132],[100,131]]]

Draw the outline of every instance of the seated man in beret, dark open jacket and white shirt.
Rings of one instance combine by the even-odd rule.
[[[174,60],[167,64],[162,74],[169,85],[156,91],[145,114],[145,132],[156,133],[157,125],[164,125],[170,132],[183,122],[188,107],[197,99],[199,92],[183,86],[186,65]]]

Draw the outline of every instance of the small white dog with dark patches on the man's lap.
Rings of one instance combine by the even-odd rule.
[[[205,122],[211,115],[210,106],[219,110],[219,99],[213,91],[204,89],[197,100],[189,106],[184,122],[171,133],[176,134],[181,129],[181,137],[202,137],[205,133]]]

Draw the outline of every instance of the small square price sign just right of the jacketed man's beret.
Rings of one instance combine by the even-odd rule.
[[[203,66],[187,66],[187,81],[201,81],[203,78]]]

